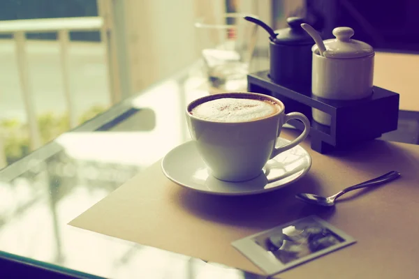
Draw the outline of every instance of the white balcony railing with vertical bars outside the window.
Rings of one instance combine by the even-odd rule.
[[[74,128],[77,125],[75,109],[69,86],[68,74],[68,45],[70,43],[69,33],[72,31],[99,31],[101,43],[105,46],[105,64],[107,66],[107,81],[110,88],[110,100],[117,103],[121,98],[120,84],[117,68],[117,54],[115,36],[112,36],[113,20],[110,13],[110,2],[107,0],[98,1],[98,17],[67,17],[48,18],[36,20],[10,20],[0,22],[0,34],[12,35],[15,41],[15,52],[17,57],[17,72],[19,75],[24,110],[29,126],[30,148],[37,149],[41,146],[41,136],[34,107],[34,96],[30,84],[30,73],[27,59],[27,34],[28,33],[57,33],[57,40],[60,48],[61,77],[64,84],[64,97],[66,109],[69,116],[69,126]],[[57,69],[58,70],[58,69]],[[0,169],[6,165],[2,139],[0,139]]]

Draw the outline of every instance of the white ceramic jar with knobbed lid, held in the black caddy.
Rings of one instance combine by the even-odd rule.
[[[317,45],[313,52],[311,91],[332,100],[357,100],[372,95],[374,50],[371,45],[353,40],[353,29],[333,29],[335,39],[325,40],[323,56]],[[313,119],[330,126],[330,115],[313,109]]]

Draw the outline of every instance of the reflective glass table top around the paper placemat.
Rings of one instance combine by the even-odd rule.
[[[78,277],[263,278],[67,225],[189,140],[184,107],[209,92],[193,66],[0,171],[0,258]],[[418,112],[383,140],[418,144]]]

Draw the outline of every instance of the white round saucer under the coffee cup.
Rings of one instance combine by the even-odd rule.
[[[281,146],[287,142],[289,141],[279,138],[277,145]],[[269,160],[265,165],[264,174],[260,174],[256,179],[235,183],[221,181],[209,174],[193,141],[175,147],[161,162],[161,169],[166,177],[180,186],[207,194],[235,196],[277,190],[302,178],[310,167],[309,153],[297,145]]]

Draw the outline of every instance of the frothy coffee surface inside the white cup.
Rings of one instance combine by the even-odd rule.
[[[193,107],[191,114],[200,119],[217,122],[246,122],[263,119],[279,111],[270,100],[219,98]]]

